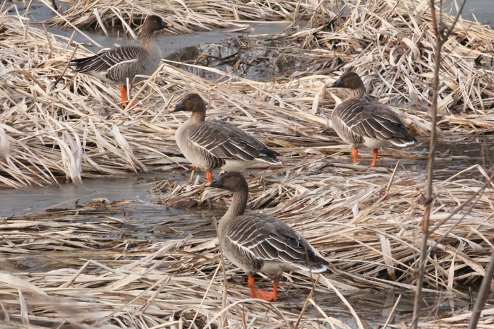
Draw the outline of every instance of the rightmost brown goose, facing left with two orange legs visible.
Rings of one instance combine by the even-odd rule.
[[[327,88],[350,89],[347,100],[333,110],[331,120],[338,136],[353,146],[354,164],[357,163],[359,147],[374,149],[371,166],[375,167],[379,148],[390,144],[403,147],[417,141],[390,107],[366,95],[366,88],[357,73],[345,72]]]

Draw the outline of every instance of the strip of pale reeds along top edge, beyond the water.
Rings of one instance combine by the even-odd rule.
[[[43,0],[44,1],[44,0]],[[47,2],[44,2],[47,4]],[[328,6],[335,6],[335,1],[328,1]],[[49,4],[47,4],[49,6]],[[246,29],[248,25],[239,21],[267,20],[309,20],[314,17],[332,18],[332,13],[320,1],[249,1],[238,0],[185,0],[185,1],[109,1],[97,0],[89,4],[77,0],[56,18],[47,23],[64,28],[106,28],[123,25],[133,35],[131,25],[140,25],[145,16],[155,13],[172,23],[172,30],[190,33],[212,28]],[[103,26],[102,26],[103,24]]]

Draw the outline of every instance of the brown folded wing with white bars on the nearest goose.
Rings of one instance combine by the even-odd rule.
[[[242,215],[229,222],[227,239],[239,251],[259,261],[291,263],[314,273],[326,270],[327,261],[289,225],[268,215]]]

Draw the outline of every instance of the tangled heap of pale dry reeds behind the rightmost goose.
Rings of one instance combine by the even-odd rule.
[[[282,37],[313,51],[308,52],[315,63],[311,72],[324,72],[327,66],[337,71],[353,68],[365,76],[373,95],[426,111],[435,65],[429,1],[366,1],[358,9],[349,1],[347,6],[350,13],[341,26],[324,30],[318,25]],[[442,17],[445,26],[452,24],[452,16]],[[462,19],[455,25],[442,49],[441,115],[493,114],[493,40],[494,31],[488,25]]]

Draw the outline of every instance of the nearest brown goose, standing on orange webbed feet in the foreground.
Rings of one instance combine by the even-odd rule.
[[[234,193],[229,210],[219,220],[219,243],[224,256],[246,272],[252,298],[276,301],[278,280],[284,270],[326,270],[327,261],[289,225],[270,215],[243,215],[248,184],[240,172],[228,172],[206,186]],[[258,272],[274,280],[271,293],[255,293],[254,274]]]

